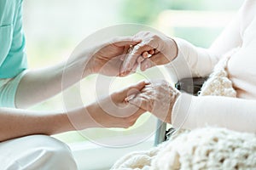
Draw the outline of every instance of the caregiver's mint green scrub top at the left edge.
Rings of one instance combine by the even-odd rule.
[[[16,88],[26,68],[22,0],[0,0],[0,106],[15,106]]]

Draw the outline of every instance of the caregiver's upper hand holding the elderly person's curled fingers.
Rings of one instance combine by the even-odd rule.
[[[120,68],[129,48],[141,42],[133,37],[115,37],[100,45],[100,49],[93,54],[88,65],[90,73],[100,73],[106,76],[120,76]]]

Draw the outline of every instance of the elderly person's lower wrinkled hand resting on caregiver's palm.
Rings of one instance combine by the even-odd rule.
[[[163,122],[172,122],[172,107],[180,92],[172,88],[166,81],[147,84],[140,94],[133,94],[126,98],[132,105],[137,105],[149,111]]]

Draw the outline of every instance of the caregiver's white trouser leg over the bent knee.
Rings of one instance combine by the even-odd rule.
[[[0,143],[1,170],[76,170],[67,144],[46,135],[32,135]]]

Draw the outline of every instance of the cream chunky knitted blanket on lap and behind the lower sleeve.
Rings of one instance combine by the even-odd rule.
[[[236,97],[226,71],[228,59],[214,67],[200,95]],[[217,127],[182,130],[158,147],[120,158],[112,169],[256,169],[256,135]]]

